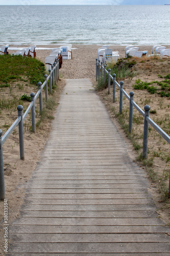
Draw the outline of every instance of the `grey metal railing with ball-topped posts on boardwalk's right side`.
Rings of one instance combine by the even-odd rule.
[[[167,135],[150,117],[150,106],[145,105],[144,111],[135,103],[134,101],[134,92],[130,92],[130,96],[123,89],[124,82],[120,81],[120,84],[116,81],[116,75],[110,74],[111,70],[106,70],[106,65],[103,66],[103,62],[96,59],[96,81],[100,79],[100,77],[104,77],[104,83],[106,83],[106,74],[108,75],[108,94],[110,94],[110,80],[113,81],[113,102],[115,102],[115,89],[116,86],[120,89],[119,94],[119,114],[122,114],[123,110],[123,94],[130,101],[129,105],[129,133],[132,133],[133,126],[133,106],[134,108],[144,117],[144,127],[143,127],[143,149],[142,149],[142,158],[147,158],[148,151],[148,132],[149,132],[149,124],[170,144],[170,137]],[[168,194],[170,194],[170,171],[169,171],[169,188]]]

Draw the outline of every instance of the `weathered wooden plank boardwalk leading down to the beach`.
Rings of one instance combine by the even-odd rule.
[[[88,79],[68,79],[8,255],[169,255],[143,169]]]

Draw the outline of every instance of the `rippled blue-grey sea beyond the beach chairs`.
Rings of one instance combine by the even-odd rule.
[[[0,6],[0,45],[170,43],[170,6]]]

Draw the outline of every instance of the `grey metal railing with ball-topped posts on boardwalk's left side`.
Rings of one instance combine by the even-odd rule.
[[[24,136],[23,136],[23,122],[25,121],[27,115],[31,110],[32,116],[32,132],[36,132],[36,121],[35,121],[35,101],[39,96],[39,109],[40,113],[43,110],[42,104],[42,89],[45,87],[45,101],[48,100],[48,81],[49,81],[49,91],[52,93],[52,86],[58,82],[59,79],[59,61],[57,60],[54,65],[51,66],[51,69],[48,70],[49,75],[44,75],[45,81],[43,84],[38,82],[38,92],[31,93],[31,103],[28,106],[26,112],[23,114],[23,106],[18,105],[18,118],[15,122],[11,125],[8,131],[3,136],[3,131],[0,130],[0,199],[3,200],[5,198],[5,179],[4,179],[4,163],[3,163],[3,144],[8,139],[8,137],[12,134],[15,130],[16,126],[18,125],[19,129],[19,152],[20,152],[20,159],[25,160],[25,150],[24,150]]]

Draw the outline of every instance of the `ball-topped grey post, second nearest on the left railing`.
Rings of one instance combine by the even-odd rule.
[[[25,151],[24,151],[24,137],[23,137],[23,106],[18,105],[17,106],[18,111],[18,117],[21,116],[21,120],[18,123],[18,129],[19,129],[19,151],[20,151],[20,159],[25,160]]]

